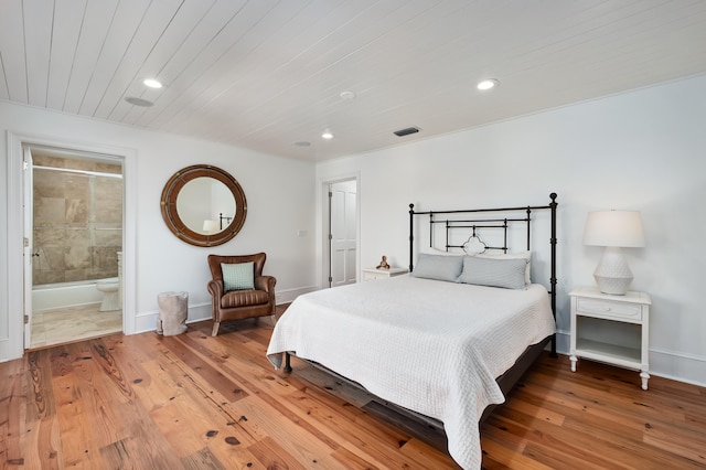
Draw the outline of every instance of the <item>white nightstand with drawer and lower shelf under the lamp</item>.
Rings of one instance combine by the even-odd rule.
[[[650,306],[652,300],[644,292],[628,291],[624,296],[602,293],[595,287],[573,290],[571,297],[571,371],[576,372],[578,357],[606,362],[640,371],[642,388],[648,389],[650,378],[649,340]],[[632,323],[640,328],[640,348],[595,341],[581,337],[579,320],[592,318],[607,323]]]

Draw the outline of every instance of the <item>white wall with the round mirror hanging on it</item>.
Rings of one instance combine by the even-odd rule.
[[[17,194],[20,178],[17,168],[8,168],[12,151],[9,137],[12,136],[35,136],[40,140],[66,142],[69,147],[73,143],[75,148],[115,149],[118,153],[125,150],[128,154],[126,218],[135,228],[132,253],[126,253],[124,247],[124,266],[135,267],[132,278],[125,280],[132,286],[131,293],[127,289],[131,298],[126,299],[126,316],[130,316],[126,320],[128,330],[154,329],[157,296],[169,290],[189,291],[190,321],[210,318],[206,256],[211,253],[266,252],[265,273],[277,277],[280,302],[315,285],[311,261],[315,200],[311,163],[9,103],[0,103],[0,225],[3,227],[0,231],[0,361],[22,354],[21,305],[10,306],[8,300],[17,298],[17,289],[20,292],[22,289],[22,271],[15,269],[22,247],[14,246],[18,237],[13,237],[11,231],[18,228],[9,223],[18,210],[8,207],[9,195]],[[247,197],[248,213],[242,232],[213,248],[195,247],[178,239],[164,225],[160,212],[164,183],[175,171],[196,163],[221,167],[233,174]],[[309,235],[299,237],[300,229]],[[9,243],[13,246],[8,246]],[[19,259],[21,266],[21,257]],[[15,293],[9,296],[11,292]]]

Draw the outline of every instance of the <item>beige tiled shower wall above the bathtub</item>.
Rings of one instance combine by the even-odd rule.
[[[34,167],[121,174],[119,164],[33,153]],[[122,180],[33,171],[35,286],[118,276],[122,246]]]

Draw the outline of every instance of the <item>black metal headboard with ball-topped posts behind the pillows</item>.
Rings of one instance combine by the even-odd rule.
[[[409,204],[409,271],[414,270],[413,259],[414,259],[414,228],[415,228],[415,216],[416,215],[427,215],[429,217],[429,246],[434,247],[434,234],[435,234],[435,225],[443,224],[446,241],[445,241],[445,249],[449,248],[463,248],[464,245],[453,245],[451,242],[450,234],[453,231],[459,228],[466,231],[472,231],[471,237],[477,237],[477,232],[481,229],[495,228],[501,229],[503,232],[503,242],[502,246],[484,246],[486,249],[498,249],[507,252],[507,231],[511,224],[524,223],[526,224],[526,238],[527,238],[527,249],[531,247],[531,221],[532,213],[534,211],[550,211],[550,220],[552,220],[552,235],[549,237],[549,246],[550,246],[550,276],[549,276],[549,297],[552,302],[552,313],[554,314],[554,319],[556,321],[556,193],[549,194],[550,202],[547,205],[527,205],[527,206],[516,206],[516,207],[499,207],[499,209],[469,209],[469,210],[452,210],[452,211],[425,211],[425,212],[415,212],[415,205]],[[522,217],[517,216],[509,216],[503,217],[501,214],[503,213],[525,213],[526,215]],[[454,214],[452,218],[449,216],[450,214]],[[464,217],[463,214],[469,214],[468,217]],[[477,214],[477,215],[471,215]],[[483,214],[483,215],[481,215]],[[439,215],[446,215],[446,218],[437,218]],[[462,218],[460,218],[462,217]],[[470,238],[469,238],[470,239]],[[552,340],[552,355],[556,355],[556,335]]]

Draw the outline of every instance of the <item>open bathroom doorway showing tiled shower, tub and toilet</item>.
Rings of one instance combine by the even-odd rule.
[[[23,153],[25,349],[121,332],[121,159],[36,145]]]

